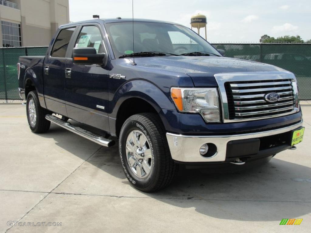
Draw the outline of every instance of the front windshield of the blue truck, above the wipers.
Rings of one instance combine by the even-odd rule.
[[[149,51],[176,55],[207,52],[220,56],[206,40],[184,26],[134,22],[134,48],[132,22],[108,23],[105,26],[116,57]]]

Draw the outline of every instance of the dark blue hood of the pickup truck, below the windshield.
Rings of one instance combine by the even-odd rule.
[[[141,67],[187,74],[195,86],[217,86],[214,74],[219,73],[285,71],[264,63],[214,56],[137,57],[135,62]]]

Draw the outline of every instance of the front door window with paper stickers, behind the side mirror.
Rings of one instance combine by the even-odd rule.
[[[102,52],[103,38],[100,34],[99,28],[96,26],[83,26],[75,47],[93,47],[96,49],[96,53]]]

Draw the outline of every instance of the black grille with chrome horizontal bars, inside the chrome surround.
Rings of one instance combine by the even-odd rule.
[[[229,119],[273,116],[294,109],[291,80],[256,80],[225,83],[228,99]],[[267,93],[276,92],[280,99],[276,103],[265,101]]]

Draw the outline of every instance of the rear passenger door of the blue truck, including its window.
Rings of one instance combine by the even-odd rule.
[[[71,38],[76,27],[63,28],[59,31],[52,49],[44,61],[44,97],[47,109],[67,116],[65,106],[65,66]]]

